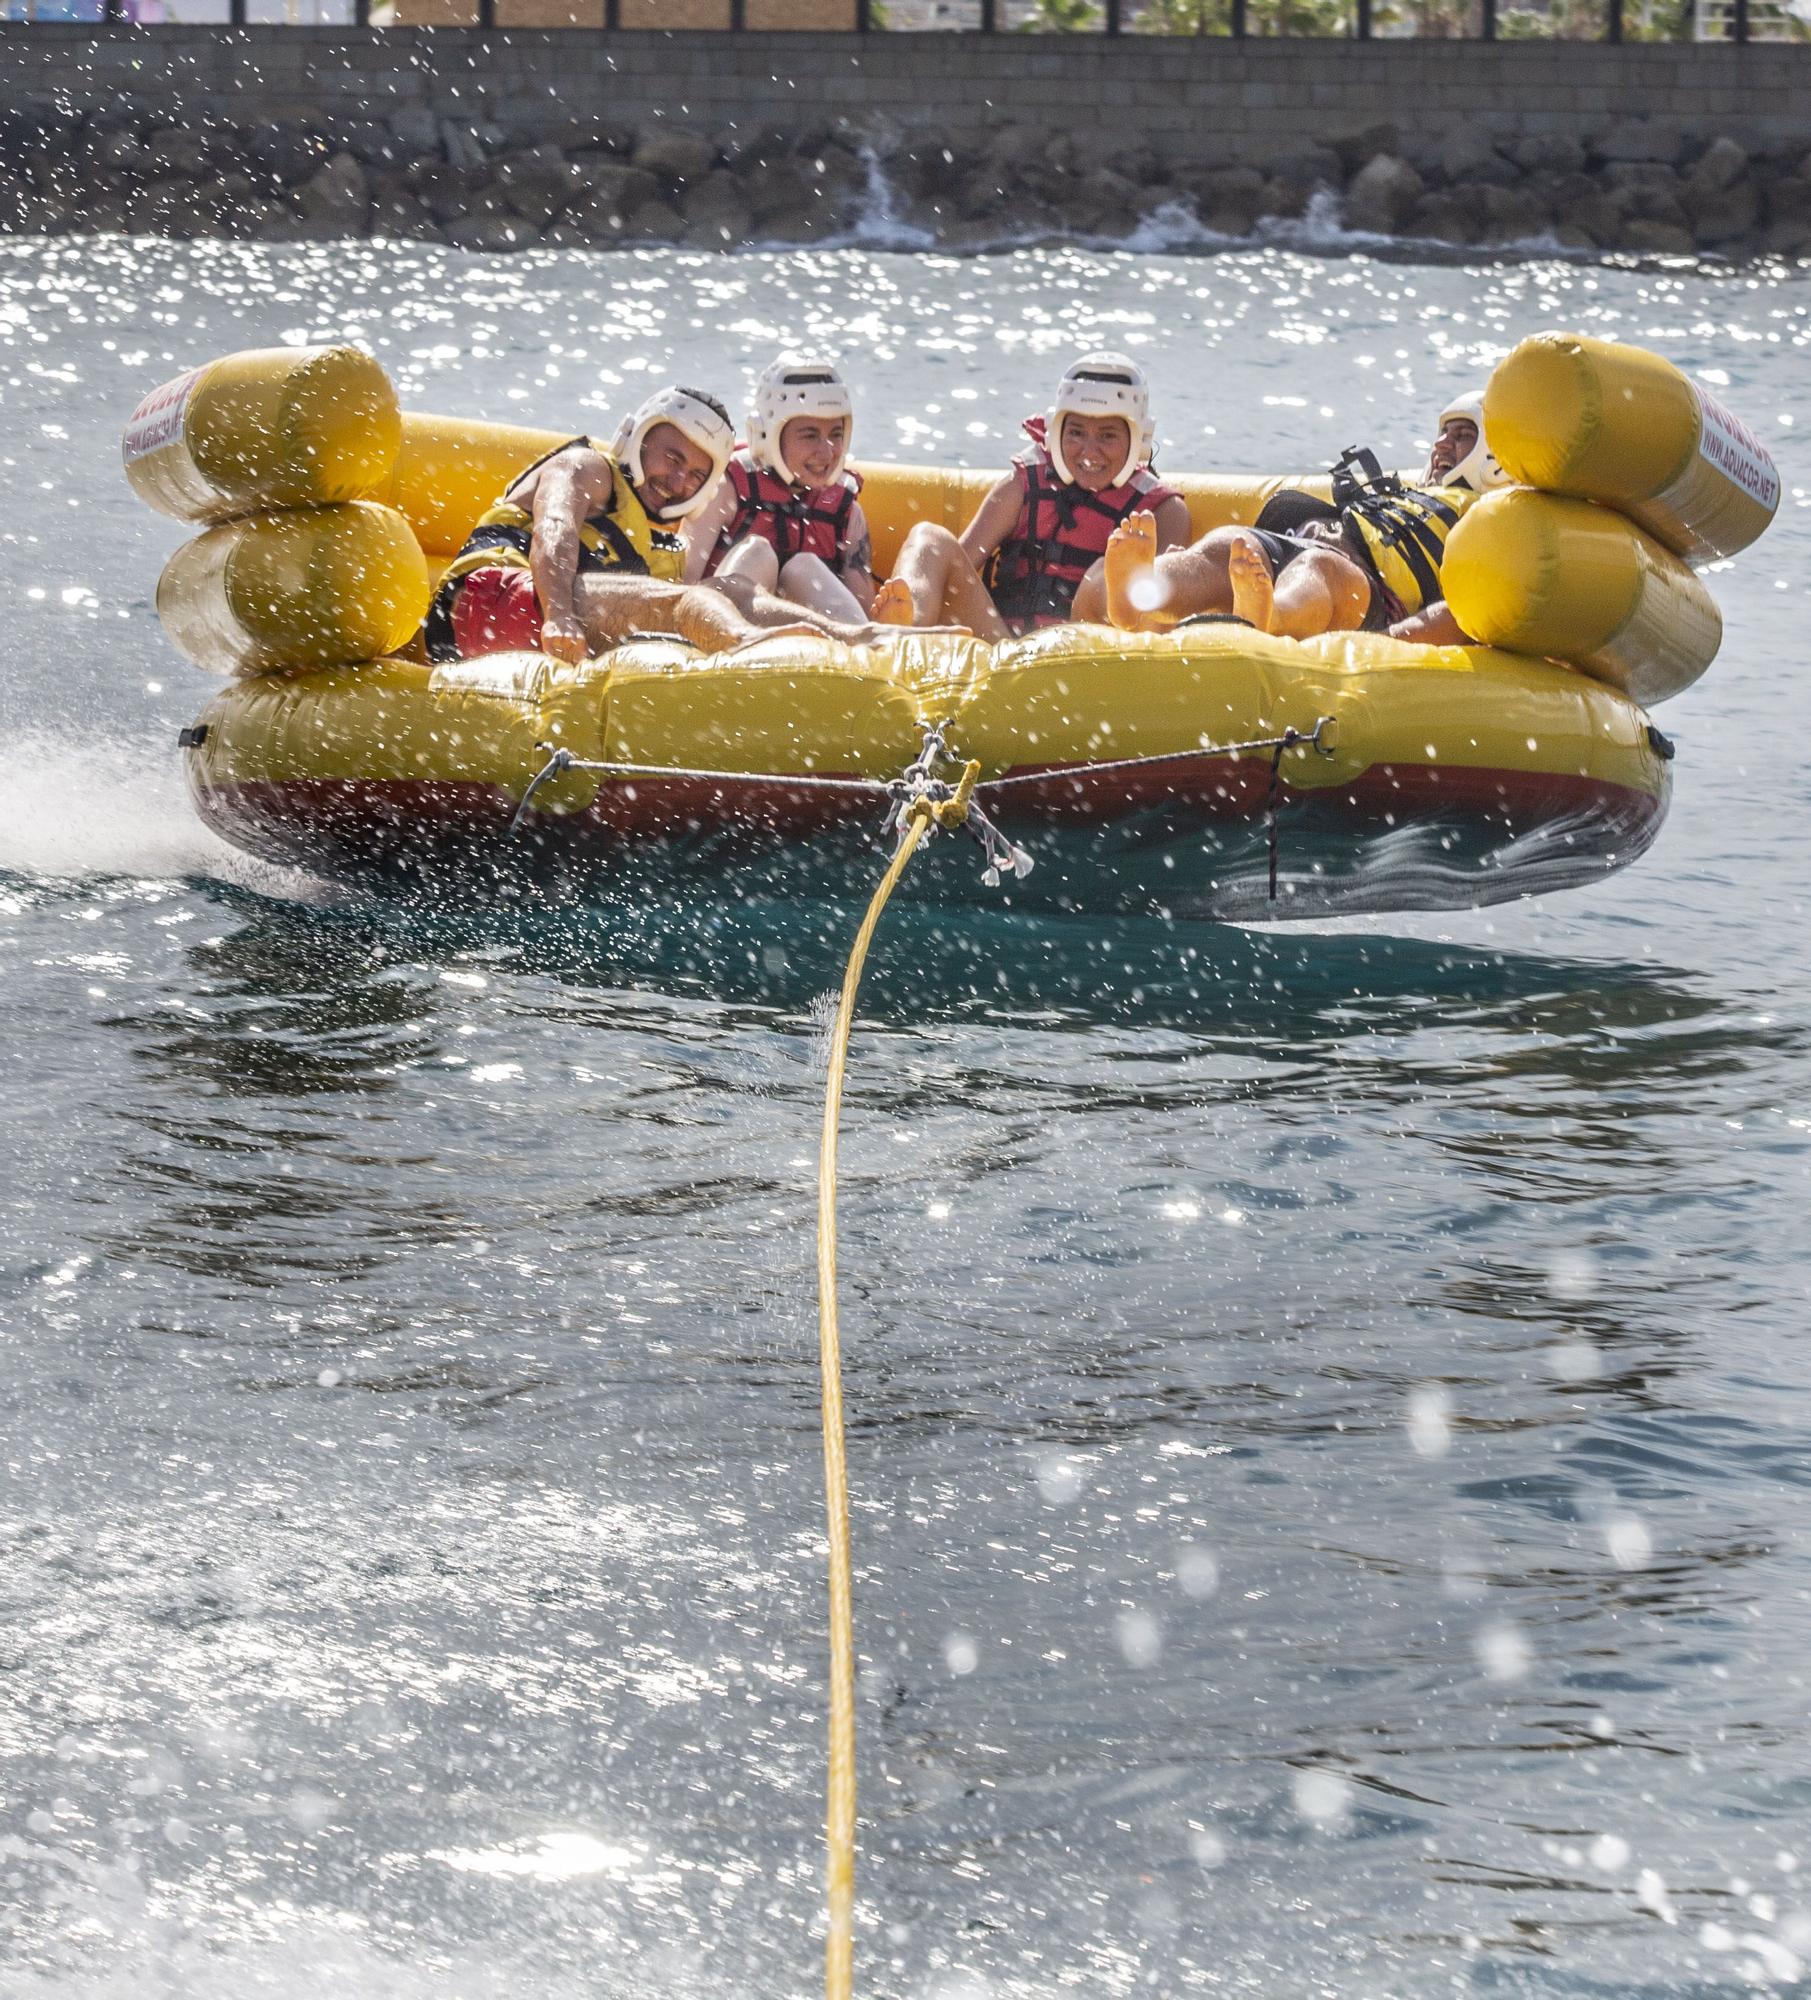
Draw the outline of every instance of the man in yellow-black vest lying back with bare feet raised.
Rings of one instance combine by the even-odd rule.
[[[1503,484],[1483,442],[1483,394],[1457,396],[1415,482],[1347,452],[1331,502],[1285,488],[1251,528],[1215,528],[1161,560],[1145,524],[1125,522],[1107,550],[1107,608],[1123,630],[1231,614],[1279,638],[1363,630],[1467,644],[1439,586],[1445,538],[1473,500]]]

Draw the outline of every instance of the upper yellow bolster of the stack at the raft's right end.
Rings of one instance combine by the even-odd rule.
[[[1641,348],[1535,334],[1491,374],[1483,424],[1511,478],[1621,508],[1693,562],[1747,548],[1779,510],[1767,448]]]

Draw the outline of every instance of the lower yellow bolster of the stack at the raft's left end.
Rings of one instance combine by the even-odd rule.
[[[178,548],[158,616],[214,674],[338,666],[396,652],[432,578],[408,522],[370,500],[226,522]]]

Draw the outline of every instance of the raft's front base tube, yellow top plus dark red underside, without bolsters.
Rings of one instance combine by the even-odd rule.
[[[772,868],[786,894],[840,894],[872,880],[884,800],[792,780],[892,780],[927,716],[1035,858],[1013,904],[1071,914],[1501,902],[1625,866],[1669,796],[1665,740],[1567,668],[1235,626],[1055,628],[999,648],[776,636],[714,660],[648,640],[584,666],[498,654],[254,676],[188,732],[188,776],[224,838],[328,872],[546,864],[634,888],[684,870],[720,892]],[[1239,748],[1323,718],[1275,780],[1267,748]],[[652,774],[552,776],[516,826],[552,744]],[[965,842],[937,856],[915,894],[993,894]]]

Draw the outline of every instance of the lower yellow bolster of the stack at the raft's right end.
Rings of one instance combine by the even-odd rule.
[[[1453,528],[1447,604],[1485,646],[1565,658],[1653,706],[1717,656],[1723,618],[1685,564],[1621,514],[1525,486]]]

